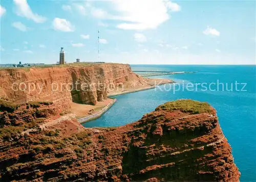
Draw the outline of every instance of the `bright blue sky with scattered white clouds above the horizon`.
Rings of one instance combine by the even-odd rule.
[[[255,64],[255,1],[0,0],[0,5],[1,64],[55,64],[60,47],[67,62]]]

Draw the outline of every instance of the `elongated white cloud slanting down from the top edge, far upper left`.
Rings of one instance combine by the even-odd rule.
[[[15,13],[18,16],[26,17],[37,23],[42,23],[46,21],[45,17],[32,12],[27,0],[13,0],[13,2],[16,5]]]

